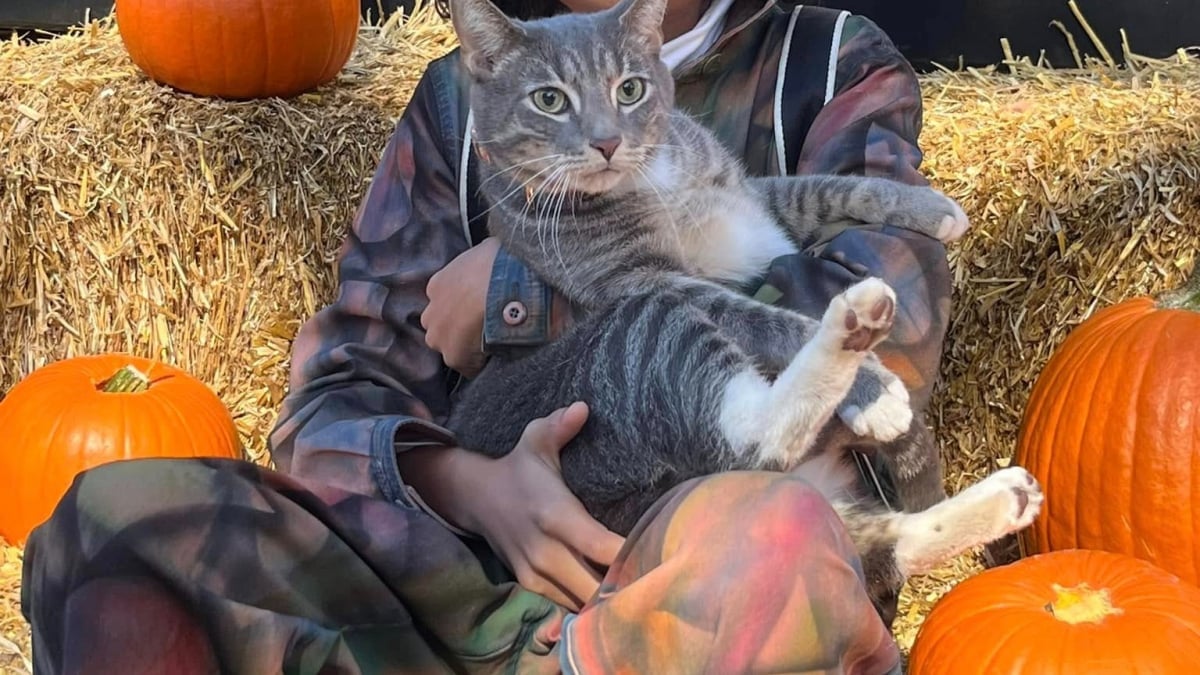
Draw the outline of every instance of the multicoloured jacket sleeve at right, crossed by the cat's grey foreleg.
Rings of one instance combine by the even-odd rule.
[[[833,97],[815,118],[796,173],[888,177],[926,185],[919,167],[922,96],[916,72],[869,19],[847,18]],[[877,350],[924,408],[949,321],[946,247],[895,227],[830,228],[809,243],[809,256],[776,262],[768,275],[790,306],[820,316],[836,293],[866,275],[896,291],[890,338]],[[782,288],[780,288],[782,286]]]

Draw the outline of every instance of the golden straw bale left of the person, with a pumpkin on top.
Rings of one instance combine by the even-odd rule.
[[[292,336],[424,65],[431,8],[364,26],[341,77],[218,102],[143,77],[106,19],[0,52],[0,392],[46,363],[127,351],[212,386],[265,453]]]

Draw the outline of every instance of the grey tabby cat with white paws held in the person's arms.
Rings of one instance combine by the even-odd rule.
[[[834,503],[894,593],[971,546],[1027,526],[1042,501],[1021,468],[919,513],[853,494],[847,458],[814,441],[834,414],[889,441],[912,411],[872,354],[895,297],[869,279],[821,321],[739,293],[829,222],[887,222],[950,241],[967,228],[941,193],[860,177],[749,178],[673,109],[659,54],[665,0],[514,22],[454,0],[472,77],[488,227],[563,293],[577,322],[553,344],[493,357],[448,426],[463,447],[508,453],[528,420],[586,401],[563,477],[590,513],[628,533],[672,486],[728,470],[786,470]]]

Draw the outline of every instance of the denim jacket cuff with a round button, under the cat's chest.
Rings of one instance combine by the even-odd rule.
[[[503,246],[492,263],[484,315],[484,352],[550,341],[553,291]]]

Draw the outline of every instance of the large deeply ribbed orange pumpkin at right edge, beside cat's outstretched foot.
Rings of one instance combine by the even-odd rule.
[[[1026,552],[1123,552],[1200,584],[1200,269],[1063,341],[1033,387],[1015,460],[1045,494]]]

